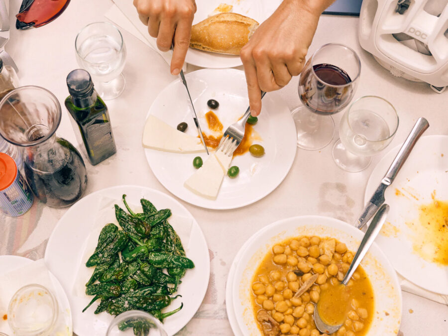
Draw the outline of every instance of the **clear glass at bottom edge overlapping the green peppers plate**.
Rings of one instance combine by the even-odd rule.
[[[162,324],[151,314],[130,310],[117,315],[106,336],[168,336]]]

